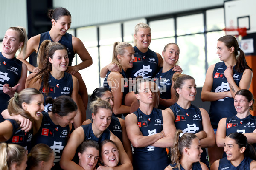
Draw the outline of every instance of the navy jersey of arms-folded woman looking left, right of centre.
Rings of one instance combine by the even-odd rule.
[[[202,114],[198,107],[191,105],[188,109],[183,109],[175,103],[174,105],[169,107],[175,118],[175,127],[176,129],[180,129],[183,132],[188,133],[198,133],[203,129],[202,125]],[[209,161],[207,157],[207,153],[205,148],[202,148],[203,152],[201,153],[200,161],[209,167]]]

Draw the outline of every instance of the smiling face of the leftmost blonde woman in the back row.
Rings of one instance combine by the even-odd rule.
[[[12,55],[14,57],[17,50],[22,46],[23,42],[19,42],[19,33],[15,30],[8,29],[3,37],[2,53]]]

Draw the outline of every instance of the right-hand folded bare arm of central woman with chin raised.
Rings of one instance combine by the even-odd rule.
[[[165,137],[157,140],[151,146],[154,147],[172,147],[173,146],[173,139],[176,132],[176,127],[174,125],[174,119],[171,114],[164,110],[162,111],[163,115],[163,132]]]

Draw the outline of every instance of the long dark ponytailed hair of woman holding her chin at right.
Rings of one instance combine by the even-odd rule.
[[[233,53],[235,54],[235,56],[238,56],[238,51],[240,52],[239,56],[236,59],[236,66],[235,66],[236,71],[238,71],[239,73],[242,73],[245,69],[253,70],[247,65],[244,51],[241,50],[241,48],[239,48],[239,44],[233,35],[225,35],[223,37],[220,37],[218,41],[224,42],[224,44],[228,49],[230,49],[231,47],[234,47],[235,49]]]

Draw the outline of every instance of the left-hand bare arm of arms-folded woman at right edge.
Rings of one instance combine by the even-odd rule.
[[[216,144],[218,147],[224,147],[226,130],[227,130],[226,120],[227,118],[222,118],[218,123],[218,128],[216,131]]]

